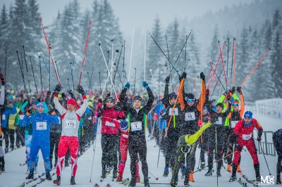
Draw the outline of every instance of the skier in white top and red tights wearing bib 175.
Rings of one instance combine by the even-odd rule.
[[[77,91],[82,95],[83,104],[78,110],[75,110],[75,100],[73,98],[68,99],[67,108],[63,108],[59,103],[58,93],[61,91],[61,86],[57,85],[54,90],[54,103],[56,109],[60,112],[62,118],[62,132],[58,147],[58,162],[56,166],[57,179],[54,183],[59,186],[61,184],[61,170],[63,167],[63,160],[65,159],[66,152],[69,149],[71,153],[71,185],[75,185],[75,173],[78,168],[78,129],[80,124],[80,117],[87,108],[87,98],[82,86],[78,86]]]

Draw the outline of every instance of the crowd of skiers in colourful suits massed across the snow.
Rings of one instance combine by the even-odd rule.
[[[4,153],[8,153],[9,148],[13,150],[25,146],[26,179],[33,179],[37,172],[40,149],[46,179],[51,181],[50,171],[56,168],[54,184],[59,186],[63,163],[66,167],[71,162],[71,185],[75,185],[78,156],[95,141],[100,120],[102,179],[112,172],[113,179],[121,182],[129,153],[131,179],[128,186],[133,187],[140,182],[139,166],[145,186],[150,186],[145,136],[148,129],[149,138],[155,138],[159,150],[164,153],[163,176],[167,177],[171,171],[171,186],[178,185],[179,170],[184,186],[189,186],[189,181],[195,182],[197,146],[200,147],[202,169],[206,165],[204,155],[207,153],[208,171],[205,176],[212,176],[215,159],[216,176],[221,176],[223,162],[226,162],[227,170],[231,172],[229,181],[235,181],[236,172],[240,172],[240,153],[245,146],[253,160],[256,181],[261,180],[252,131],[254,128],[259,131],[255,138],[260,142],[263,130],[252,117],[252,112],[244,112],[240,86],[225,91],[218,101],[209,100],[209,89],[206,89],[205,75],[201,72],[201,93],[199,98],[195,98],[193,93],[185,92],[186,72],[183,72],[179,77],[177,94],[169,93],[170,77],[166,77],[163,98],[155,97],[146,81],[142,82],[142,86],[147,90],[147,97],[139,94],[130,96],[129,82],[117,97],[109,93],[100,97],[98,93],[85,92],[80,85],[75,96],[71,90],[64,93],[60,84],[53,92],[30,96],[23,91],[6,92],[4,75],[0,74],[0,78],[1,172],[5,171]],[[2,148],[2,134],[5,148]],[[276,183],[281,183],[281,138],[282,129],[274,134],[278,153]]]

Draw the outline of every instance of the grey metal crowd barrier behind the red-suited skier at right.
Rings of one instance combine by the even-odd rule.
[[[256,133],[256,136],[254,136]],[[257,148],[257,152],[259,154],[262,154],[262,148],[264,149],[264,154],[265,155],[271,155],[271,156],[276,156],[276,150],[274,148],[274,143],[272,141],[272,136],[274,134],[274,131],[264,131],[264,133],[262,134],[262,148],[259,145],[259,141],[257,141],[257,134],[258,134],[258,130],[255,129],[255,131],[253,131],[252,136],[255,139],[255,145]],[[264,141],[263,141],[264,140]]]

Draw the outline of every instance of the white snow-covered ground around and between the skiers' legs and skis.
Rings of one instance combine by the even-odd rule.
[[[280,129],[281,126],[281,120],[275,120],[271,118],[267,118],[265,116],[259,116],[257,114],[254,114],[254,117],[262,124],[262,127],[265,131],[276,131],[277,129]],[[111,181],[111,178],[108,177],[105,181],[102,183],[99,182],[101,173],[102,173],[102,165],[101,165],[101,157],[102,157],[102,149],[101,149],[101,134],[98,134],[97,136],[97,146],[95,154],[93,152],[93,145],[91,148],[85,151],[85,153],[79,157],[78,159],[78,171],[75,176],[75,181],[77,183],[77,186],[94,186],[95,183],[99,183],[99,186],[106,186],[107,183],[110,183],[111,186],[121,186],[121,184],[118,184],[116,181]],[[155,180],[154,177],[151,176],[150,182],[154,183],[169,183],[171,180],[171,173],[168,175],[168,177],[164,178],[163,172],[164,172],[164,156],[161,154],[159,159],[159,167],[157,167],[157,160],[158,160],[158,153],[159,148],[156,146],[155,141],[147,141],[147,162],[149,165],[149,172],[151,172],[155,177],[159,178],[159,180]],[[92,168],[92,159],[94,154],[94,162],[93,162],[93,172],[92,176],[90,176],[91,168]],[[200,158],[200,149],[197,148],[196,150],[196,166],[195,170],[197,170],[198,162]],[[277,162],[277,156],[269,156],[266,155],[266,160],[269,165],[270,172],[274,177],[274,181],[276,181],[276,162]],[[8,186],[20,186],[21,183],[25,181],[25,177],[27,174],[25,174],[26,166],[20,166],[20,163],[25,162],[25,148],[19,148],[17,150],[13,150],[10,153],[7,153],[5,155],[5,161],[6,161],[6,173],[0,175],[0,187],[8,187]],[[260,172],[262,176],[268,176],[269,171],[266,167],[266,162],[264,161],[264,156],[261,154],[259,155],[259,163],[260,163]],[[207,164],[207,159],[206,159]],[[125,166],[125,172],[123,174],[123,179],[130,178],[130,157],[128,155],[128,160],[126,162]],[[215,165],[214,165],[215,167]],[[242,152],[242,160],[241,160],[241,169],[243,173],[248,176],[250,179],[255,179],[255,170],[252,163],[252,158],[250,157],[250,153],[247,151]],[[39,165],[38,165],[38,174],[42,174],[44,172],[44,165],[42,161],[42,154],[39,151]],[[51,173],[55,172],[55,170],[52,170]],[[194,174],[195,183],[190,182],[190,186],[217,186],[216,184],[216,174],[214,173],[213,176],[204,176],[206,174],[207,170],[203,170],[202,172],[196,172]],[[38,175],[36,174],[36,176]],[[229,183],[228,180],[231,176],[228,172],[221,169],[222,176],[219,177],[219,186],[240,186],[238,182]],[[110,175],[111,176],[111,175]],[[143,181],[142,171],[140,167],[140,176],[141,181]],[[239,174],[237,174],[239,177]],[[56,179],[56,175],[52,177],[53,180]],[[90,183],[90,178],[92,183]],[[66,169],[63,169],[62,176],[61,176],[61,186],[71,186],[70,185],[70,179],[71,179],[71,167],[66,167]],[[32,183],[28,184],[27,186],[32,186],[37,181],[33,181]],[[44,181],[41,184],[37,185],[39,186],[54,186],[53,181]],[[137,183],[137,186],[144,186],[144,184]],[[159,185],[159,184],[151,184],[151,186],[170,186],[170,185]],[[180,173],[179,173],[179,180],[178,180],[178,186],[183,186],[183,179],[180,179]],[[252,186],[250,183],[247,183],[247,186]],[[271,185],[276,186],[276,185]],[[278,185],[277,185],[278,186]]]

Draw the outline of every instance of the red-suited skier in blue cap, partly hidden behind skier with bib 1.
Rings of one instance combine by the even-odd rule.
[[[121,149],[121,160],[118,163],[118,179],[116,179],[117,182],[120,182],[123,180],[123,171],[125,168],[125,162],[128,159],[128,122],[125,120],[121,121],[120,124],[121,127],[121,138],[119,142],[119,147]],[[138,157],[136,155],[136,157]],[[136,182],[140,183],[140,175],[139,175],[139,165],[136,163]]]

